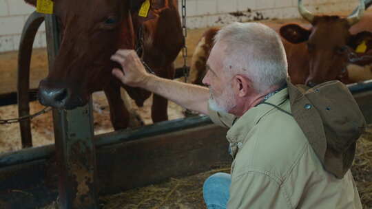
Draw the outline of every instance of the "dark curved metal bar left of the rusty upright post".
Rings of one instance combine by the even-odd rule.
[[[18,52],[18,78],[17,78],[17,100],[19,117],[30,115],[30,63],[32,54],[32,45],[34,43],[37,30],[44,21],[44,14],[33,12],[23,26],[21,42]],[[32,135],[30,120],[19,122],[21,129],[22,147],[32,146]]]

